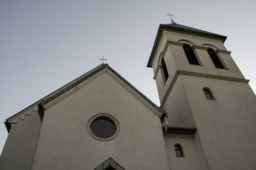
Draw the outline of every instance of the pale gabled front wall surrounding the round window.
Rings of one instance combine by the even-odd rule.
[[[88,132],[98,113],[118,120],[114,139]],[[159,117],[105,73],[46,110],[32,169],[91,170],[110,157],[124,169],[169,169]]]

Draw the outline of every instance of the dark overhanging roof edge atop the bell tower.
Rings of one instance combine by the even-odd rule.
[[[151,51],[151,55],[149,57],[149,62],[148,62],[146,67],[152,67],[152,63],[151,62],[153,60],[153,56],[154,56],[154,53],[155,53],[155,50],[156,50],[156,45],[159,42],[160,35],[161,35],[162,30],[164,28],[172,29],[172,30],[178,30],[178,31],[184,31],[184,32],[187,32],[187,33],[196,33],[196,34],[199,34],[199,35],[205,35],[205,36],[210,36],[210,37],[218,38],[218,39],[222,40],[223,43],[227,39],[227,37],[223,36],[223,35],[218,35],[218,34],[215,34],[215,33],[210,33],[210,32],[204,31],[204,30],[198,30],[196,28],[190,28],[190,27],[187,27],[187,26],[181,26],[181,25],[178,25],[176,23],[160,24],[159,29],[158,29],[158,31],[156,33],[156,39],[154,41],[154,45],[153,45],[153,48],[152,48],[152,51]]]

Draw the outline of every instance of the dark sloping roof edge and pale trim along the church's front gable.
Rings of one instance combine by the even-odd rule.
[[[161,121],[164,120],[164,116],[166,115],[166,112],[164,110],[156,106],[152,101],[149,100],[149,98],[146,98],[144,94],[142,94],[139,90],[132,86],[132,84],[129,84],[127,80],[125,80],[117,72],[115,72],[114,69],[112,69],[108,64],[101,64],[100,66],[95,67],[95,69],[92,69],[90,72],[87,72],[86,74],[83,74],[81,77],[78,77],[78,79],[75,79],[74,81],[71,81],[69,84],[66,84],[60,89],[54,91],[52,94],[49,94],[48,96],[42,98],[36,103],[33,103],[31,106],[28,106],[28,108],[25,108],[23,111],[6,119],[6,129],[9,132],[9,130],[11,129],[11,123],[17,123],[18,119],[23,119],[24,115],[30,115],[31,111],[37,111],[41,117],[41,120],[43,120],[43,113],[45,109],[49,108],[50,106],[53,106],[58,101],[62,100],[66,96],[69,96],[73,92],[80,89],[80,87],[85,86],[85,84],[89,83],[93,79],[96,79],[105,72],[110,74],[110,76],[116,81],[118,81],[119,84],[124,86],[124,88],[127,89],[127,91],[129,91],[136,98],[138,98],[139,101],[144,103],[145,106],[150,108],[151,111],[153,111],[157,116],[159,116],[159,118],[161,118]]]

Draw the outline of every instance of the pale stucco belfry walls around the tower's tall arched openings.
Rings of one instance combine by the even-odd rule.
[[[173,42],[178,43],[175,44]],[[196,47],[194,52],[201,65],[188,63],[186,54],[182,47],[183,43],[191,46],[194,45]],[[175,33],[173,31],[164,30],[161,35],[161,40],[159,40],[159,47],[157,47],[153,64],[154,77],[157,82],[160,102],[163,101],[166,91],[169,89],[171,81],[173,80],[177,70],[244,79],[240,69],[229,54],[226,54],[225,52],[218,52],[218,57],[223,61],[223,64],[227,69],[216,69],[207,50],[201,49],[200,47],[210,47],[213,50],[223,50],[227,52],[221,40],[215,40],[214,38],[203,37],[200,35]],[[159,57],[161,57],[161,54],[164,55],[164,60],[166,61],[166,67],[169,73],[169,79],[166,81],[166,84],[162,82],[163,75],[160,71],[158,72]]]

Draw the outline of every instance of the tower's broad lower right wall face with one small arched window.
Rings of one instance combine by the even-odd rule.
[[[210,169],[255,169],[256,97],[246,83],[182,76]],[[213,91],[208,100],[203,88]]]

